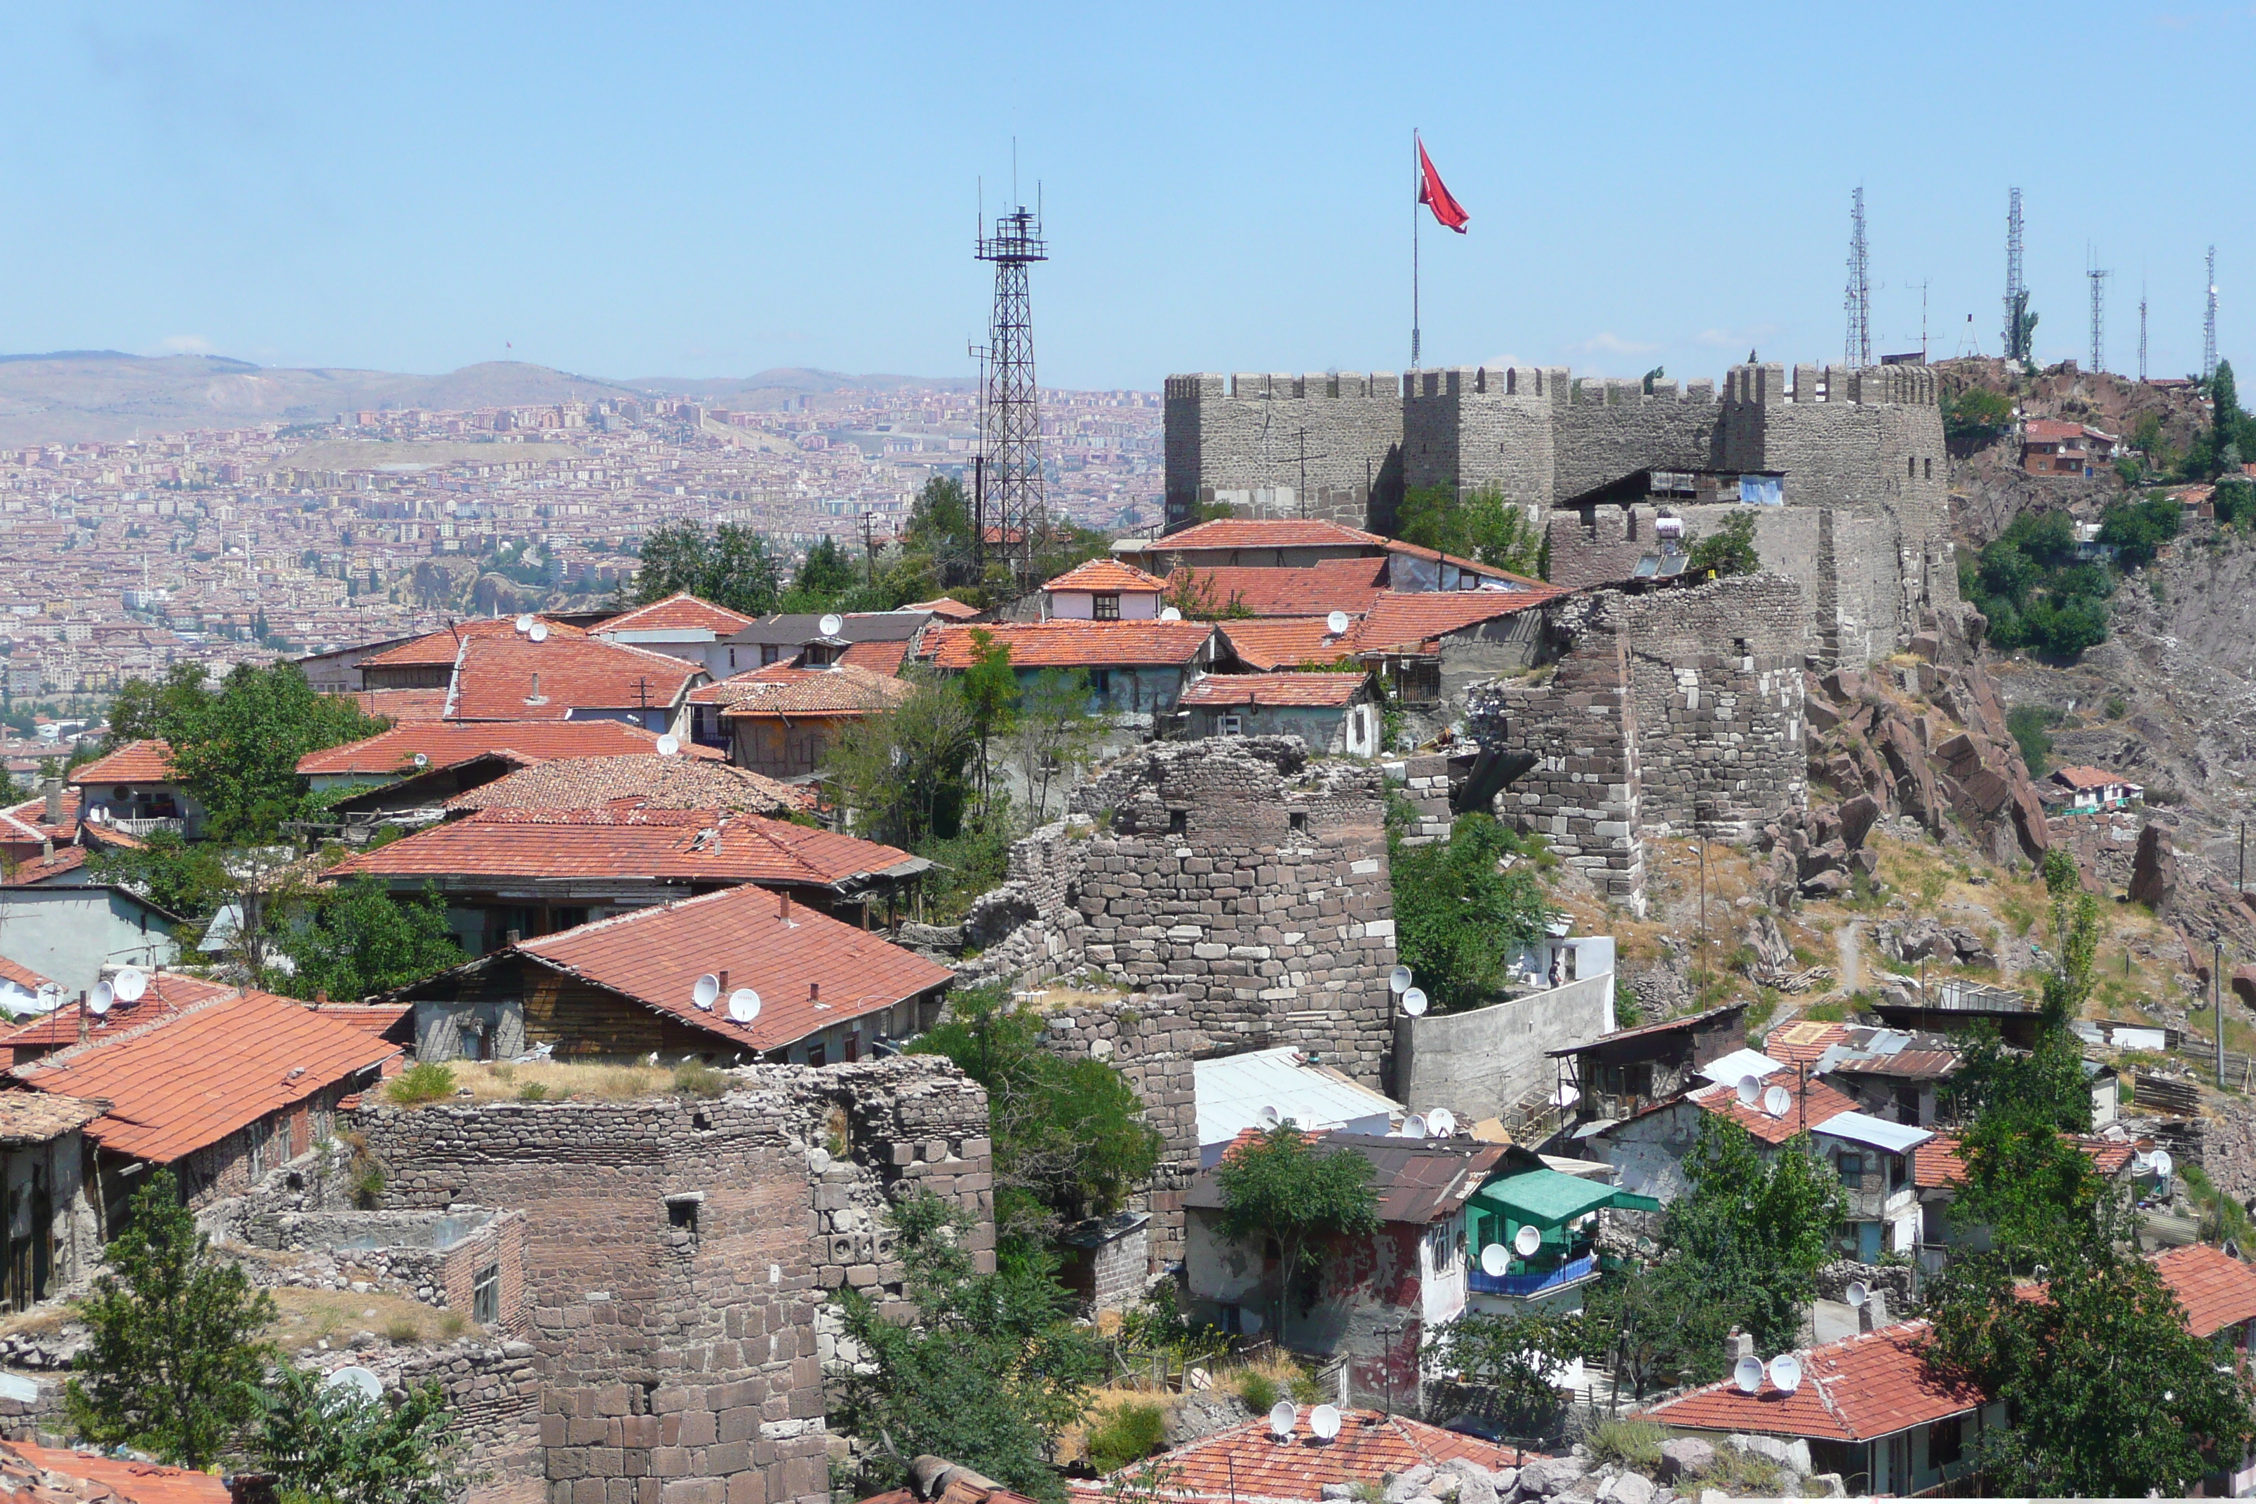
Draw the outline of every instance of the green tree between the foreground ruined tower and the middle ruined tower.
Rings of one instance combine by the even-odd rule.
[[[1060,1227],[1119,1211],[1164,1148],[1128,1078],[1103,1060],[1042,1049],[1042,1015],[1008,988],[966,988],[909,1053],[948,1055],[986,1087],[995,1143],[995,1236],[1017,1256]],[[1011,1247],[1017,1245],[1017,1247]]]

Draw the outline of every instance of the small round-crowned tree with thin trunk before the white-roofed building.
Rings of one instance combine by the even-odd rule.
[[[1378,1231],[1372,1161],[1356,1150],[1320,1150],[1293,1123],[1239,1143],[1216,1175],[1220,1231],[1263,1256],[1277,1249],[1270,1330],[1284,1342],[1293,1283],[1313,1272],[1324,1242]]]

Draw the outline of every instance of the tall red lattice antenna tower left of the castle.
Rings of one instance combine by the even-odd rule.
[[[997,548],[1024,582],[1049,537],[1042,492],[1042,397],[1033,383],[1033,307],[1026,268],[1049,259],[1038,210],[1017,205],[979,228],[977,259],[995,262],[995,313],[988,320],[986,410],[979,433],[986,451],[986,514],[995,519]]]

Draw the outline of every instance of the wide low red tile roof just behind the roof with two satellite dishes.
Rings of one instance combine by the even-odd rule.
[[[905,850],[758,814],[485,809],[347,857],[329,877],[729,882],[841,886],[914,864]],[[914,870],[914,868],[911,868]]]

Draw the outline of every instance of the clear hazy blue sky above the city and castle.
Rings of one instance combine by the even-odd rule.
[[[2256,345],[2256,7],[14,7],[0,350],[605,377],[966,374],[975,187],[1045,189],[1047,383],[1426,363],[1836,361],[1850,189],[1877,350]]]

